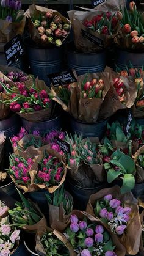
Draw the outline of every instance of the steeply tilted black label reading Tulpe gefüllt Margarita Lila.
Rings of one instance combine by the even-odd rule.
[[[11,65],[18,62],[21,55],[24,53],[24,46],[21,42],[21,35],[18,34],[12,40],[10,40],[6,45],[4,45],[4,53],[7,60],[7,65]]]

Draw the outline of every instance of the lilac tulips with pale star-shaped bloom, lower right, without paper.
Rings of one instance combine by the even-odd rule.
[[[123,235],[130,219],[131,208],[124,207],[119,199],[112,198],[111,194],[107,194],[96,202],[94,212],[113,233]]]

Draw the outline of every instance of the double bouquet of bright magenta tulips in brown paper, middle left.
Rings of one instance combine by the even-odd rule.
[[[38,153],[34,159],[31,150]],[[65,181],[67,169],[63,163],[63,156],[55,150],[46,148],[40,152],[35,148],[29,150],[29,154],[10,155],[9,174],[18,188],[24,192],[33,192],[38,189],[46,189],[53,193]]]

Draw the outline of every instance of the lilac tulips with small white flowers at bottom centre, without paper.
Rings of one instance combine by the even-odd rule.
[[[113,241],[103,225],[92,224],[87,218],[70,216],[70,226],[64,232],[71,245],[81,256],[117,256]]]

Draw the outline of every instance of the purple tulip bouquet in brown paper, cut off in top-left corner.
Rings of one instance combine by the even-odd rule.
[[[0,49],[15,35],[23,34],[26,18],[21,10],[21,1],[1,0],[0,4]]]

